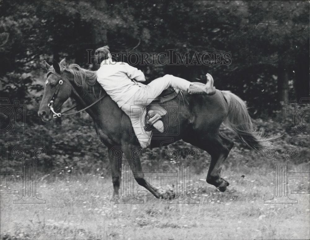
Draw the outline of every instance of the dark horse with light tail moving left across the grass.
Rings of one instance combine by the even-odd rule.
[[[96,72],[81,68],[77,64],[66,64],[64,59],[53,65],[45,62],[47,80],[45,82],[38,116],[43,121],[61,116],[57,111],[63,103],[72,97],[93,119],[95,130],[100,141],[108,151],[119,147],[127,159],[134,157],[133,175],[135,181],[149,190],[156,198],[173,199],[173,190],[163,190],[151,185],[144,177],[139,154],[140,145],[133,132],[129,117],[109,97],[96,81]],[[182,139],[184,142],[207,151],[211,156],[206,182],[224,192],[229,182],[220,175],[223,162],[227,158],[234,143],[221,135],[219,128],[223,123],[237,133],[241,140],[256,151],[266,146],[266,139],[255,131],[246,104],[230,91],[216,89],[214,95],[191,95],[183,93],[185,101],[179,106],[179,121],[169,122],[169,130],[161,133],[160,138],[152,137],[150,148],[170,144]],[[178,133],[178,134],[175,134]],[[165,143],[162,139],[171,138]],[[118,198],[120,187],[120,164],[122,155],[117,158],[109,154],[112,170],[113,198]],[[139,173],[139,174],[136,174]]]

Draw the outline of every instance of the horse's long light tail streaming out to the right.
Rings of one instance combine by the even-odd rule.
[[[228,116],[224,120],[224,124],[236,132],[244,143],[256,151],[269,146],[268,140],[253,128],[246,103],[230,91],[222,91],[222,93],[228,102]]]

